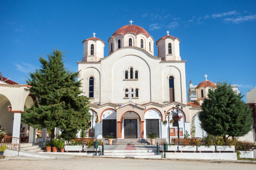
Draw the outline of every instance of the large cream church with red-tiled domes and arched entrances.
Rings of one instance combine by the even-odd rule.
[[[180,39],[167,31],[156,41],[158,55],[154,56],[153,37],[132,22],[110,36],[106,57],[105,42],[95,33],[82,42],[79,80],[83,95],[90,98],[93,118],[93,130],[87,131],[87,137],[190,134],[191,120],[200,105],[187,105],[186,60],[180,56]]]

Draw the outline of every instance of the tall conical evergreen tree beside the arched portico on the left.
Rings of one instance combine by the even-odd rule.
[[[55,127],[65,131],[88,129],[89,100],[81,95],[79,72],[71,73],[64,67],[61,51],[53,50],[47,56],[48,60],[39,57],[41,69],[35,69],[26,81],[36,100],[25,109],[22,122],[33,128],[51,129],[51,138]]]

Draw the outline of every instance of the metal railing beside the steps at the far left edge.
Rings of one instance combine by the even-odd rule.
[[[20,151],[20,138],[0,135],[0,146],[6,145],[7,149]]]

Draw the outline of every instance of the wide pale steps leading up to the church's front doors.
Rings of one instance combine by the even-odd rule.
[[[101,141],[106,144],[108,139],[101,139]],[[155,139],[156,143],[166,142],[166,139]],[[150,145],[150,139],[113,139],[112,145]]]

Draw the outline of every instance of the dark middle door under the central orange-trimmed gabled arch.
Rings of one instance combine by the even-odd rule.
[[[137,138],[137,119],[124,119],[124,137]]]

